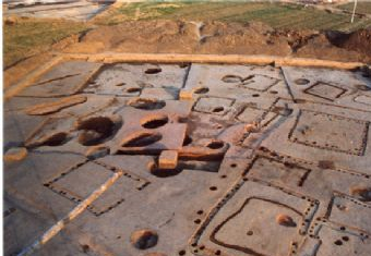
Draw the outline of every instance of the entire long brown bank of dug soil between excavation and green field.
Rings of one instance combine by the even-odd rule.
[[[63,51],[272,54],[370,63],[370,29],[340,34],[276,31],[262,23],[128,21],[93,29]]]

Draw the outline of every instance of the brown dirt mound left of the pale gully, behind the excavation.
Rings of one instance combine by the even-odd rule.
[[[87,33],[83,44],[103,42],[104,50],[118,52],[192,52],[196,34],[192,24],[178,21],[128,21]]]

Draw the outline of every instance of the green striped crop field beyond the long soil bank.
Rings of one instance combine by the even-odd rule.
[[[368,3],[369,4],[369,3]],[[370,4],[371,5],[371,4]],[[299,4],[268,2],[145,2],[118,8],[100,24],[117,24],[125,20],[192,20],[192,21],[259,21],[275,28],[354,31],[370,27],[371,20],[348,14],[335,14]]]

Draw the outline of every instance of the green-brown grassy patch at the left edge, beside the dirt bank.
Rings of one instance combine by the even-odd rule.
[[[4,66],[50,49],[68,36],[87,29],[80,22],[49,19],[17,19],[3,25]]]

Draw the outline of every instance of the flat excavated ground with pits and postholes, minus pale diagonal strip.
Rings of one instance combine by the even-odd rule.
[[[4,103],[4,252],[371,252],[371,80],[296,66],[61,62]]]

